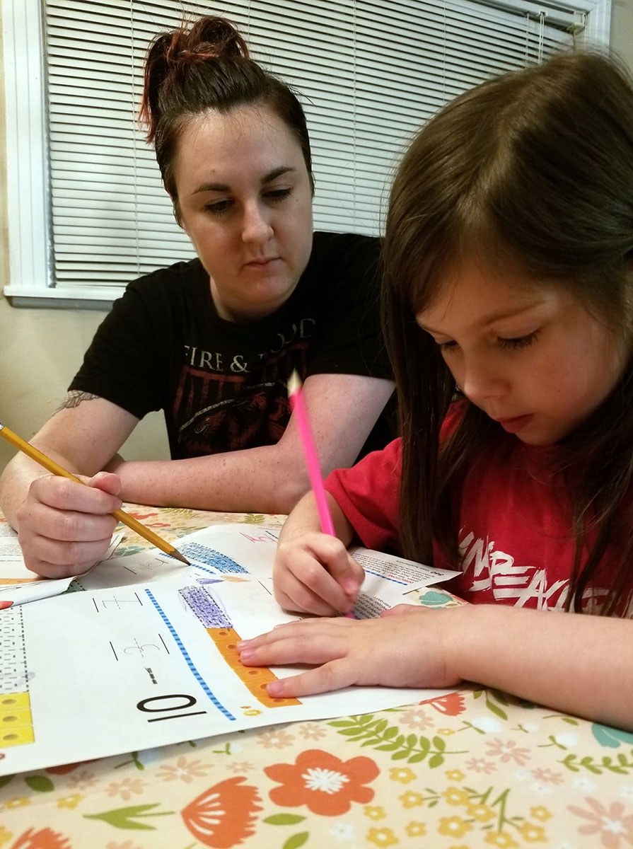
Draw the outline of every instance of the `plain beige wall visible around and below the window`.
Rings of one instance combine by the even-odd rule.
[[[633,70],[633,0],[612,0],[611,40]],[[8,282],[2,98],[0,86],[0,291]],[[103,312],[90,310],[16,309],[0,295],[0,422],[25,439],[33,436],[58,407],[103,317]],[[12,453],[0,444],[0,470]],[[167,458],[161,414],[143,419],[121,453],[126,458]]]

